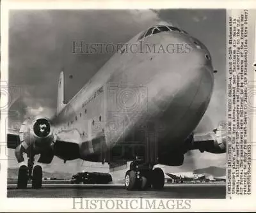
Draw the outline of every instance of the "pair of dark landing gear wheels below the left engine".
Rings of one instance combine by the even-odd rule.
[[[22,165],[19,168],[18,175],[18,189],[26,189],[28,186],[28,180],[32,180],[32,188],[40,189],[42,187],[42,167],[36,165],[34,168],[34,158],[28,159],[28,166]],[[33,171],[33,173],[32,173]]]

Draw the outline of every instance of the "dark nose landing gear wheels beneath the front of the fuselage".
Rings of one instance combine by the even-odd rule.
[[[163,189],[164,172],[161,168],[154,168],[150,164],[133,161],[130,170],[125,173],[125,188],[127,190]]]

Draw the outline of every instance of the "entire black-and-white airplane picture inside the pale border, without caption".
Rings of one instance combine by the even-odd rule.
[[[10,10],[6,196],[225,199],[226,16]]]

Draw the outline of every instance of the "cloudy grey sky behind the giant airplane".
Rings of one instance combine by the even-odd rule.
[[[215,85],[212,99],[196,132],[211,131],[225,121],[225,10],[22,10],[9,19],[9,85],[13,94],[10,124],[18,127],[27,117],[56,112],[58,76],[65,71],[65,101],[107,62],[112,54],[74,54],[72,42],[125,43],[148,27],[168,22],[202,41],[212,56]],[[72,77],[70,77],[72,76]],[[47,170],[79,172],[97,168],[81,160],[65,165],[55,158]],[[195,161],[196,163],[195,165]],[[184,168],[223,165],[225,154],[193,151]],[[81,165],[87,166],[81,166]],[[193,165],[192,165],[193,164]],[[17,166],[13,161],[10,165]],[[103,166],[104,170],[106,166]],[[180,167],[180,166],[178,166]],[[100,166],[102,168],[102,166]]]

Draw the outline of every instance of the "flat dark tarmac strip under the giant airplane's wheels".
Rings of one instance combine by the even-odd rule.
[[[156,191],[127,191],[124,185],[43,184],[42,189],[17,189],[8,184],[8,198],[225,198],[225,184],[166,184]]]

